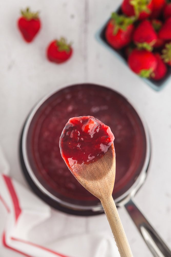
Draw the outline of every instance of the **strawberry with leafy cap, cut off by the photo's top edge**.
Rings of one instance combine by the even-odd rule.
[[[152,0],[124,0],[122,12],[127,16],[136,16],[138,20],[143,20],[152,13]]]

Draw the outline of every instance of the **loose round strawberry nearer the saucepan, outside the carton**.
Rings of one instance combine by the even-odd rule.
[[[72,55],[71,43],[67,44],[65,38],[52,41],[47,48],[47,58],[51,62],[62,63]]]

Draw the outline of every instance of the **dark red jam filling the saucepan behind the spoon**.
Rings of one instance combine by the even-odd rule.
[[[93,204],[90,194],[71,174],[61,157],[59,138],[71,117],[91,115],[115,135],[116,178],[113,197],[126,192],[142,170],[146,136],[135,109],[106,87],[82,84],[57,91],[37,110],[29,127],[27,154],[41,184],[53,195],[77,204]],[[85,160],[86,159],[86,160]],[[87,161],[87,157],[83,161]]]

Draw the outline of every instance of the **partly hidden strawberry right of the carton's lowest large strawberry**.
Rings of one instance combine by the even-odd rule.
[[[159,53],[155,53],[154,54],[157,60],[157,67],[156,69],[153,71],[151,78],[154,80],[160,80],[162,78],[165,77],[166,72],[167,72],[167,67],[164,63],[164,61],[162,60],[161,56]]]

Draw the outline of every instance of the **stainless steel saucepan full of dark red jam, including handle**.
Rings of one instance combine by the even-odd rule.
[[[20,143],[21,164],[29,185],[46,203],[63,212],[84,216],[103,213],[99,200],[67,169],[59,150],[59,136],[69,118],[87,115],[110,126],[115,135],[116,205],[126,208],[154,256],[170,257],[170,250],[132,200],[147,176],[150,136],[142,116],[118,92],[95,84],[71,85],[33,107]]]

